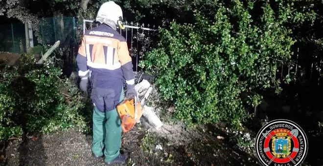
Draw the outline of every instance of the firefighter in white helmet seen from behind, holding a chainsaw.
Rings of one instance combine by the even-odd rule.
[[[91,79],[93,109],[92,152],[109,164],[124,163],[128,156],[119,152],[121,146],[120,119],[115,109],[126,98],[135,98],[135,79],[127,42],[117,31],[123,29],[122,10],[113,1],[100,6],[96,21],[101,24],[85,32],[76,57],[81,79],[80,89],[87,91]]]

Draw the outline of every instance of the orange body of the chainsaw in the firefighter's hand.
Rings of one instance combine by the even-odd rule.
[[[135,111],[134,99],[126,99],[116,105],[116,110],[121,120],[122,132],[130,131],[138,122],[143,113],[140,102],[137,103],[137,112]],[[135,119],[135,112],[137,117]]]

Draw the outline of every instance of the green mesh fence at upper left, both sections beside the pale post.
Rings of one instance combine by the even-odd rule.
[[[21,54],[34,45],[52,45],[61,41],[60,46],[66,47],[77,43],[73,17],[43,18],[38,25],[37,29],[32,29],[31,23],[0,24],[0,51]]]

